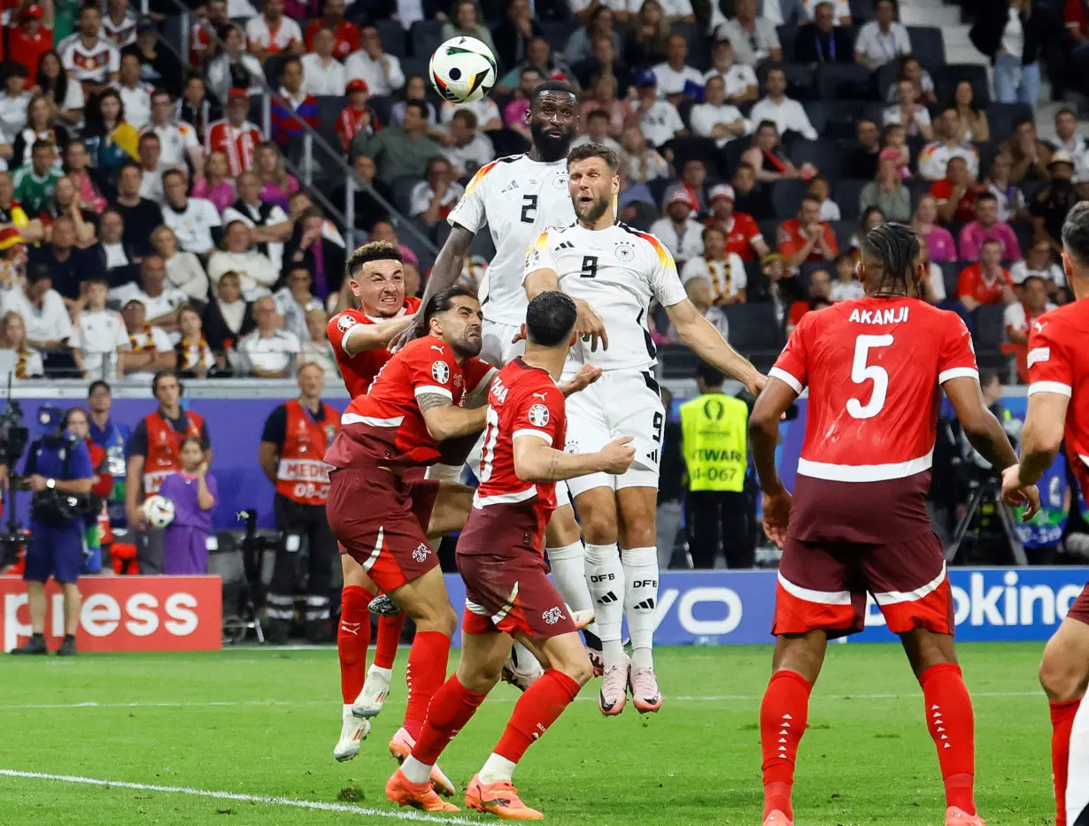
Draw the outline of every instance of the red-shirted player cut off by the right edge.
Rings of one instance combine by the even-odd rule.
[[[1075,300],[1032,324],[1028,336],[1028,412],[1020,464],[1002,474],[1003,493],[1038,482],[1062,445],[1089,496],[1089,204],[1063,226],[1063,270]],[[1089,585],[1043,650],[1040,685],[1051,703],[1055,826],[1089,816]],[[1079,723],[1080,720],[1080,723]]]

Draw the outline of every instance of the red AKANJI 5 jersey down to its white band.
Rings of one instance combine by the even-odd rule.
[[[866,297],[806,313],[769,375],[809,387],[798,474],[876,482],[929,470],[939,386],[979,370],[957,315]]]

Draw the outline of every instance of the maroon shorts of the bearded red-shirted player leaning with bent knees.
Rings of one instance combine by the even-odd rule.
[[[439,567],[427,543],[437,480],[406,482],[380,468],[334,470],[329,480],[329,527],[380,591],[390,593]]]

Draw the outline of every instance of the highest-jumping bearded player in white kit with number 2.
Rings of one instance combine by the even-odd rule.
[[[527,300],[522,286],[526,250],[542,230],[565,226],[575,220],[567,193],[567,150],[578,134],[578,100],[574,88],[561,81],[549,81],[535,88],[526,111],[526,125],[533,135],[529,151],[481,167],[465,187],[465,195],[446,219],[450,236],[439,251],[424,294],[426,303],[431,295],[456,283],[474,238],[487,225],[495,255],[488,266],[487,286],[480,294],[486,317],[480,358],[495,367],[509,363],[524,349],[515,340],[526,320]],[[426,332],[417,323],[397,344]],[[470,469],[480,466],[480,452],[478,444],[469,455]],[[556,485],[556,505],[546,535],[552,576],[572,611],[589,611],[594,604],[586,584],[585,550],[567,488],[562,482]],[[597,627],[591,624],[584,637],[595,671],[600,673]],[[525,690],[540,674],[538,662],[516,643],[504,679]]]

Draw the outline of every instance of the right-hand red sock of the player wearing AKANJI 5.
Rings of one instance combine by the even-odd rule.
[[[976,814],[976,722],[960,667],[952,663],[930,666],[919,685],[945,781],[945,805]]]

